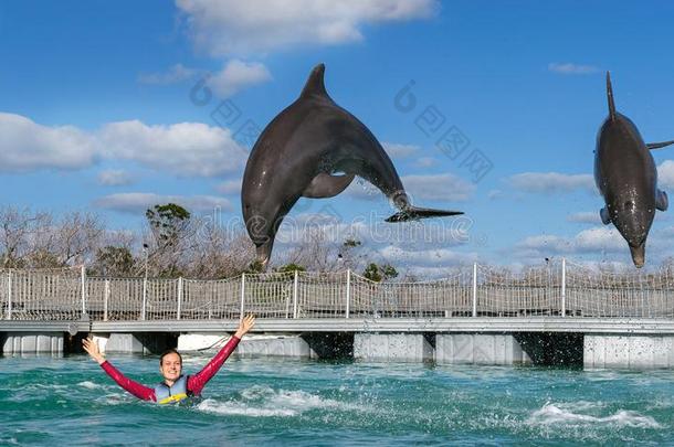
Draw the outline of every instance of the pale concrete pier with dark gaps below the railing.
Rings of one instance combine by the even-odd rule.
[[[108,353],[200,350],[236,321],[0,321],[0,354],[64,354],[92,334]],[[197,328],[199,330],[185,330]],[[286,328],[286,330],[278,330]],[[289,329],[288,329],[289,328]],[[196,340],[196,339],[194,339]],[[213,347],[215,349],[215,347]],[[549,364],[586,369],[674,369],[674,321],[539,317],[260,320],[239,356],[356,359],[443,364]]]

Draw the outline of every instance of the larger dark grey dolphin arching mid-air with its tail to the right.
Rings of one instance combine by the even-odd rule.
[[[356,175],[400,210],[387,222],[463,214],[410,203],[391,159],[370,130],[328,96],[324,74],[323,64],[312,71],[299,98],[266,126],[245,166],[243,219],[264,268],[276,231],[295,202],[335,196]]]

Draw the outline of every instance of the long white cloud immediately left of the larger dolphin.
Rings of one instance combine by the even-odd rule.
[[[200,123],[148,126],[112,123],[99,132],[106,156],[178,175],[213,177],[240,170],[248,158],[229,129]]]

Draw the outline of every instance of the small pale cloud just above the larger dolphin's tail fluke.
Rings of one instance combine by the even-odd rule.
[[[455,202],[468,200],[475,190],[473,183],[452,174],[406,175],[401,180],[412,199]]]

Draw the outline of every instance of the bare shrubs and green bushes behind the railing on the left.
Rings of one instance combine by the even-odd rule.
[[[87,275],[107,277],[223,279],[262,270],[242,225],[222,227],[212,216],[196,216],[175,203],[148,209],[138,231],[109,230],[104,219],[91,212],[56,217],[51,212],[4,206],[0,209],[0,255],[4,269],[86,265]],[[270,270],[350,268],[375,281],[399,277],[393,266],[378,264],[370,255],[360,241],[336,243],[315,226],[292,248],[280,251]]]

